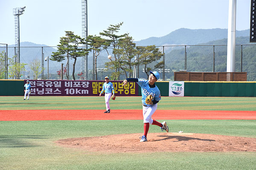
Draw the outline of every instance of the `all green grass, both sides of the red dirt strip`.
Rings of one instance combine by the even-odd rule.
[[[117,97],[112,109],[142,109],[140,97]],[[105,109],[103,97],[4,96],[0,110]],[[162,97],[160,110],[256,111],[250,97]],[[0,111],[1,113],[1,111]],[[163,120],[159,120],[163,121]],[[256,120],[166,120],[170,132],[256,138]],[[150,126],[149,133],[159,133]],[[255,152],[97,153],[57,146],[72,137],[143,133],[142,120],[0,121],[0,170],[256,170]]]

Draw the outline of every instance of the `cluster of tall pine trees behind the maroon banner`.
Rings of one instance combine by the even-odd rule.
[[[75,35],[72,31],[65,31],[65,36],[60,38],[58,51],[52,52],[53,61],[61,62],[67,59],[66,68],[69,62],[69,57],[74,59],[72,78],[75,80],[75,66],[78,57],[83,57],[93,51],[94,55],[94,70],[97,76],[97,57],[105,50],[108,55],[112,54],[109,62],[105,62],[105,67],[112,70],[111,79],[116,80],[120,75],[125,75],[126,78],[132,77],[133,68],[137,65],[143,65],[145,74],[156,68],[163,68],[163,62],[157,62],[163,54],[155,45],[144,47],[136,46],[133,38],[129,34],[118,35],[120,27],[123,23],[110,25],[107,30],[99,33],[100,36],[89,35],[87,39]],[[90,48],[81,48],[81,45],[88,45]],[[111,51],[110,51],[111,50]],[[137,59],[135,59],[137,56]],[[153,68],[149,67],[152,62],[157,62]],[[66,77],[67,72],[66,72]],[[80,74],[81,75],[81,74]]]

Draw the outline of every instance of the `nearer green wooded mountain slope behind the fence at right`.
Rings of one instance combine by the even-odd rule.
[[[216,45],[213,49],[213,44]],[[236,38],[235,71],[241,71],[241,44],[242,46],[242,71],[247,72],[247,81],[256,80],[256,43],[249,43],[249,36]],[[247,44],[247,45],[245,45]],[[213,50],[215,55],[213,55]],[[185,69],[185,48],[174,49],[165,55],[166,68],[172,71]],[[200,46],[186,46],[186,70],[188,72],[212,72],[213,56],[215,57],[215,72],[227,70],[227,39],[201,43]],[[173,73],[172,73],[173,74]]]

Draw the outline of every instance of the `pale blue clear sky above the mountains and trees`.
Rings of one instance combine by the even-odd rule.
[[[0,43],[15,44],[13,8],[24,6],[20,42],[57,46],[65,31],[81,36],[81,0],[0,0]],[[228,8],[229,0],[87,0],[88,35],[121,22],[119,34],[134,41],[179,28],[227,28]],[[236,30],[249,28],[250,0],[236,0]]]

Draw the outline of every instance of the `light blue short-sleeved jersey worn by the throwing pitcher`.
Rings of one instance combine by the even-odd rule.
[[[137,83],[141,87],[141,95],[142,95],[141,101],[142,101],[143,105],[147,105],[145,103],[145,99],[150,94],[153,96],[152,101],[154,101],[154,100],[156,100],[156,101],[161,100],[160,90],[157,88],[157,86],[155,86],[154,88],[151,88],[148,85],[148,80],[143,80],[143,79],[138,79]],[[150,106],[150,105],[147,105],[147,106]]]

